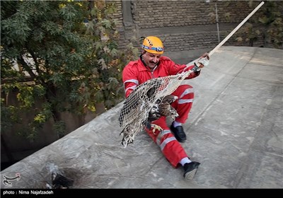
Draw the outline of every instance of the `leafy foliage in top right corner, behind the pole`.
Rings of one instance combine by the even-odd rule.
[[[258,1],[250,1],[250,7],[258,5]],[[258,12],[259,17],[252,17],[238,30],[236,40],[249,42],[263,40],[262,47],[283,49],[283,5],[281,1],[265,1]]]

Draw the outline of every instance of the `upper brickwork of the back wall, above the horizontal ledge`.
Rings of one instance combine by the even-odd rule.
[[[209,13],[215,3],[205,1],[133,1],[134,23],[139,28],[179,27],[187,25],[214,24]],[[248,1],[217,2],[221,23],[240,23],[253,8]],[[229,13],[231,18],[226,18]]]

